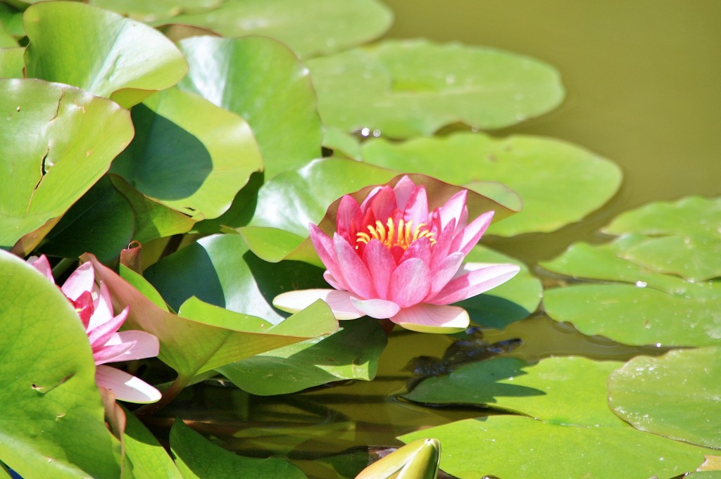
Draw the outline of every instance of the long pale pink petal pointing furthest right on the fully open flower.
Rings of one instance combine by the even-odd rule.
[[[448,282],[438,295],[426,300],[426,303],[447,305],[465,300],[505,283],[520,270],[521,268],[516,264],[485,264],[482,267],[477,267],[477,264],[473,263],[464,264],[459,270],[459,273],[463,274]]]

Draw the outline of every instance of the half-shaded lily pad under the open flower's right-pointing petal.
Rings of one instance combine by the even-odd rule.
[[[466,256],[466,261],[513,263],[521,267],[521,272],[503,285],[458,303],[461,308],[468,311],[471,321],[474,323],[485,328],[503,329],[513,321],[528,318],[538,308],[543,295],[543,287],[539,279],[533,277],[528,271],[528,267],[521,261],[487,249],[482,245],[476,246]]]

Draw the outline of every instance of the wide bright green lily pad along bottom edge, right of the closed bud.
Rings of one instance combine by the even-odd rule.
[[[441,442],[441,469],[460,479],[672,478],[713,454],[631,427],[559,426],[518,416],[466,419],[399,437],[420,438]]]

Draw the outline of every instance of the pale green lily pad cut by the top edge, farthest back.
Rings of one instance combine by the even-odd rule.
[[[197,25],[224,37],[275,38],[296,55],[325,55],[380,37],[393,14],[376,0],[226,1],[216,9],[156,21]]]

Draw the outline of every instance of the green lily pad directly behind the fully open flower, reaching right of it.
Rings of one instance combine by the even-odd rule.
[[[363,161],[423,173],[453,184],[500,182],[521,195],[523,210],[488,233],[549,232],[581,220],[616,194],[622,172],[611,161],[570,143],[514,135],[456,133],[403,143],[368,140]],[[532,171],[533,174],[529,174]]]

